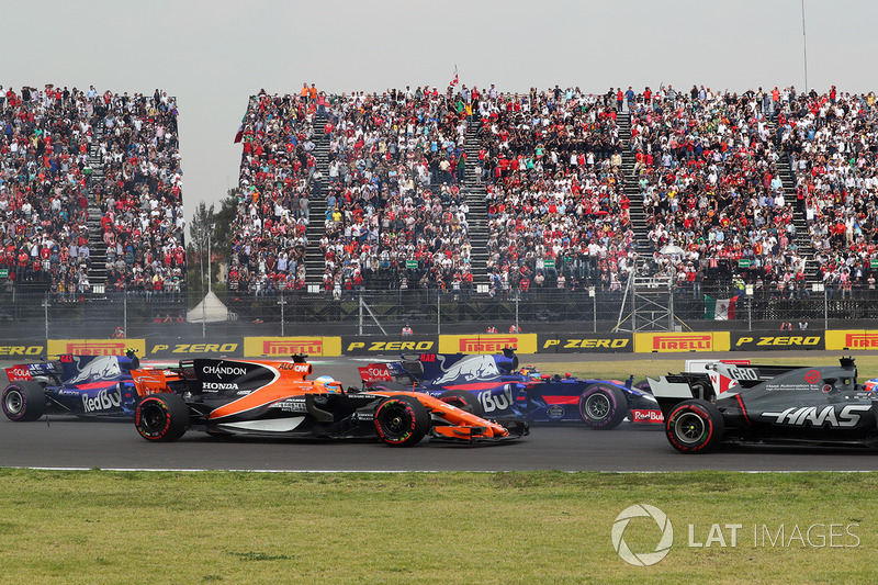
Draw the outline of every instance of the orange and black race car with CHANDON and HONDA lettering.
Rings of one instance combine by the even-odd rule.
[[[418,392],[346,391],[328,376],[307,380],[311,373],[304,356],[193,359],[179,368],[133,370],[145,395],[134,424],[149,441],[173,441],[190,428],[214,436],[378,437],[396,447],[416,445],[427,434],[462,442],[528,434],[522,420],[486,420]]]

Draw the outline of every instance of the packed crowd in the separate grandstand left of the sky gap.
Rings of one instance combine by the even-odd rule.
[[[0,88],[0,269],[61,300],[88,292],[89,192],[101,209],[111,290],[164,294],[184,279],[177,108],[94,87]],[[99,143],[104,176],[89,166]],[[147,284],[148,283],[148,284]]]

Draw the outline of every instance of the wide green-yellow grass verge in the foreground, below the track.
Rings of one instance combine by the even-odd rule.
[[[875,473],[0,470],[0,485],[2,583],[874,583],[878,544]],[[674,527],[653,566],[611,544],[639,503]],[[689,548],[690,524],[727,547]],[[724,525],[742,525],[735,547]],[[754,542],[763,525],[774,545]],[[624,539],[652,552],[658,535],[634,518]]]

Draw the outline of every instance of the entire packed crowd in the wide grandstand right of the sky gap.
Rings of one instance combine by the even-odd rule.
[[[646,212],[641,249],[623,192],[616,123],[623,106]],[[464,148],[471,125],[475,160]],[[800,296],[798,196],[820,275],[845,294],[868,285],[875,255],[874,127],[875,95],[834,88],[262,92],[244,124],[237,267],[257,290],[302,288],[306,227],[319,221],[327,291],[465,288],[472,246],[460,187],[469,165],[487,190],[496,291],[619,291],[639,252],[652,255],[648,270],[673,271],[696,295],[711,274],[740,273],[766,291]],[[326,177],[316,160],[322,139]],[[783,165],[798,181],[796,195],[784,190]],[[325,217],[309,217],[314,198],[326,202]],[[668,247],[679,251],[662,254]]]

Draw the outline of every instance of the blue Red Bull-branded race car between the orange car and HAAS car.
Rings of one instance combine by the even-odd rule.
[[[519,368],[513,350],[494,356],[403,356],[403,361],[371,363],[359,370],[370,391],[409,389],[480,416],[539,423],[576,420],[593,429],[612,429],[626,418],[662,423],[658,404],[645,382],[544,375],[532,365]]]

